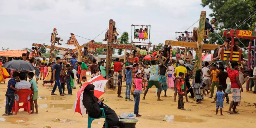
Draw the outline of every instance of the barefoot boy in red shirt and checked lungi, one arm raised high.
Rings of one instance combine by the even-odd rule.
[[[228,60],[229,54],[227,54]],[[239,80],[239,71],[238,71],[238,63],[236,61],[231,63],[232,69],[230,69],[228,65],[228,61],[226,61],[227,72],[231,82],[231,93],[232,93],[232,102],[230,103],[228,113],[230,114],[239,114],[236,112],[236,106],[241,102],[241,92],[243,92],[243,87]],[[241,91],[240,91],[241,89]],[[233,107],[233,111],[231,108]]]

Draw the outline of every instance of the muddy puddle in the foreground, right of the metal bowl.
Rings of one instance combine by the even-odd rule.
[[[201,119],[192,119],[188,118],[182,115],[165,115],[164,118],[163,116],[159,117],[153,117],[148,118],[150,120],[155,120],[155,121],[166,121],[166,122],[174,122],[174,121],[179,121],[179,122],[188,122],[188,123],[201,123],[203,120]]]

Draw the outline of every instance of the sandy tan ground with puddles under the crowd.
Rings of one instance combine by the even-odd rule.
[[[90,78],[89,76],[87,78]],[[9,79],[6,80],[6,83]],[[125,84],[125,83],[124,83]],[[49,85],[49,84],[48,84]],[[0,84],[0,111],[5,112],[5,92],[7,84]],[[245,84],[244,90],[245,90]],[[38,84],[39,98],[38,99],[38,115],[28,115],[27,112],[19,110],[17,115],[0,118],[1,127],[44,127],[51,126],[52,128],[70,128],[70,127],[87,127],[88,115],[84,114],[82,117],[79,113],[74,113],[74,102],[76,99],[76,92],[74,89],[72,96],[51,96],[51,88],[42,86],[42,80]],[[65,89],[67,93],[67,89]],[[214,90],[216,92],[216,88]],[[58,94],[58,90],[55,92]],[[106,90],[102,96],[107,100],[105,103],[110,106],[117,115],[122,112],[133,113],[134,102],[125,101],[125,98],[118,98],[117,91]],[[163,96],[164,93],[161,94]],[[190,94],[189,94],[190,95]],[[122,88],[122,96],[125,97],[125,87]],[[136,124],[137,128],[143,127],[255,127],[256,125],[256,108],[253,102],[256,102],[256,95],[252,92],[242,92],[241,106],[237,109],[240,114],[228,115],[227,110],[229,104],[224,103],[224,116],[214,115],[216,105],[210,103],[213,99],[208,99],[209,94],[203,99],[203,104],[195,104],[195,99],[189,99],[190,102],[185,102],[185,109],[191,111],[177,110],[177,102],[173,102],[174,91],[168,89],[168,98],[161,97],[163,101],[157,101],[156,88],[150,88],[146,95],[146,100],[142,100],[139,105],[139,113],[143,117],[137,118],[140,121]],[[232,99],[232,96],[229,96]],[[185,101],[185,97],[184,97]],[[226,102],[226,100],[224,101]],[[250,104],[249,104],[250,103]],[[219,112],[220,114],[220,112]],[[166,118],[166,116],[168,118]],[[63,121],[53,121],[55,118]],[[66,119],[71,119],[67,121]],[[168,119],[174,120],[167,122]],[[23,120],[25,122],[18,122]],[[97,119],[92,122],[92,128],[101,128],[104,119]]]

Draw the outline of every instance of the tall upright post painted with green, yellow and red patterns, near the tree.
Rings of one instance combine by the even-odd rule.
[[[206,17],[206,12],[201,11],[200,20],[199,20],[199,32],[198,32],[197,47],[196,47],[194,73],[198,69],[202,69],[202,50],[203,50],[202,46],[203,46],[203,38],[205,33],[205,17]]]

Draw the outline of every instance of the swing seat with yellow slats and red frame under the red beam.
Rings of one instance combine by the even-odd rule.
[[[230,54],[231,51],[222,51],[221,52],[221,60],[227,60],[227,54]],[[238,55],[234,55],[234,54],[238,54]],[[229,60],[230,58],[232,58],[232,61],[241,61],[241,56],[242,56],[242,50],[239,51],[233,51],[232,54],[230,54]]]

